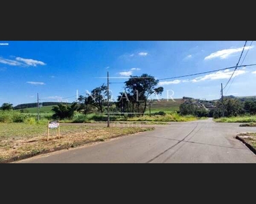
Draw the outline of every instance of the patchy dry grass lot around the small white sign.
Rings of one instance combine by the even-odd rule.
[[[56,130],[50,130],[46,141],[46,124],[0,123],[0,163],[153,129],[65,125],[60,126],[60,139]]]

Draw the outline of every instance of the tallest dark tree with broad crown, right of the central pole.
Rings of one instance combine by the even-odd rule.
[[[164,88],[162,86],[156,87],[158,82],[152,75],[147,73],[143,73],[140,77],[131,75],[130,79],[124,82],[132,102],[132,112],[134,112],[134,104],[137,104],[137,112],[143,115],[147,108],[149,97],[152,94],[162,94]],[[143,104],[143,107],[140,107],[141,104]]]

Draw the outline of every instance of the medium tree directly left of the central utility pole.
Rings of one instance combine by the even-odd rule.
[[[101,113],[104,112],[104,102],[107,101],[107,86],[99,86],[91,90],[91,95],[86,98],[88,104],[94,105]]]

